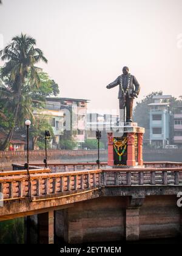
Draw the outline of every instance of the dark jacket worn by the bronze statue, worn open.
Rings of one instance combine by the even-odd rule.
[[[128,90],[128,95],[129,98],[132,98],[131,94],[133,94],[134,92],[136,94],[140,93],[140,84],[138,84],[138,81],[136,80],[136,77],[133,76],[132,74],[130,75],[130,85],[129,85],[129,90]],[[109,89],[113,88],[117,85],[120,85],[121,83],[121,76],[118,76],[116,78],[116,80],[114,80],[112,83],[109,84]],[[123,91],[121,91],[121,86],[119,87],[119,92],[118,92],[118,99],[123,99],[124,98],[124,93]]]

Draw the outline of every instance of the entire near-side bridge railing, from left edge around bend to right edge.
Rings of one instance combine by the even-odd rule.
[[[182,168],[92,169],[83,171],[50,172],[50,169],[31,169],[2,172],[0,193],[4,200],[25,196],[55,197],[60,193],[78,193],[105,186],[181,185]],[[31,191],[31,193],[30,193]]]

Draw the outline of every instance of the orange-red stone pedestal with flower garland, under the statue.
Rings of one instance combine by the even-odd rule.
[[[143,134],[144,128],[138,127],[137,123],[118,123],[107,132],[108,138],[108,166],[114,168],[126,168],[143,166]],[[113,138],[122,141],[127,137],[127,148],[122,155],[122,160],[117,159],[113,148]]]

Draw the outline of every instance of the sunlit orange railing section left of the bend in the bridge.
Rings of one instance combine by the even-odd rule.
[[[31,171],[37,172],[37,169]],[[98,187],[101,187],[101,170],[32,173],[30,180],[25,174],[0,177],[0,192],[5,200],[21,199],[28,194],[32,197],[51,196],[52,194],[55,196],[62,192],[78,192]]]

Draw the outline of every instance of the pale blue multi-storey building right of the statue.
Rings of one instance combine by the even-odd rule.
[[[157,147],[165,147],[169,144],[170,131],[170,113],[169,99],[170,95],[153,96],[153,103],[150,107],[150,144]]]

